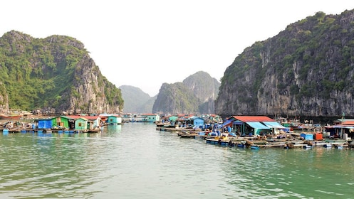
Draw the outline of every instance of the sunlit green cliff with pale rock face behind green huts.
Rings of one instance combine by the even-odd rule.
[[[101,74],[83,43],[68,36],[42,39],[18,31],[5,33],[0,38],[0,77],[2,111],[118,113],[123,109],[120,90]]]

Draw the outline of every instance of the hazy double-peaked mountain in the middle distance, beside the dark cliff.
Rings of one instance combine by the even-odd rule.
[[[157,95],[152,112],[214,113],[220,83],[207,72],[199,71],[183,82],[164,83]]]

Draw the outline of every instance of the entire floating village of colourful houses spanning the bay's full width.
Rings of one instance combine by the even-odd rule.
[[[25,114],[1,114],[4,121],[0,128],[9,133],[101,133],[107,125],[126,122],[151,122],[157,131],[176,133],[181,139],[202,139],[206,144],[266,149],[278,147],[293,149],[301,147],[352,148],[354,119],[336,119],[333,124],[313,124],[266,116],[231,116],[222,119],[217,114],[98,114],[60,115],[34,118]],[[24,122],[26,121],[26,122]]]

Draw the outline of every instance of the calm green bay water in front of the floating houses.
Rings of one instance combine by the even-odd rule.
[[[143,123],[0,143],[0,198],[354,198],[352,149],[229,148]]]

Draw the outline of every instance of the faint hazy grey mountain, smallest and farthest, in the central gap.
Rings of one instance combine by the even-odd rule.
[[[150,97],[138,87],[122,85],[119,87],[124,100],[123,112],[125,113],[151,113],[155,97]]]

